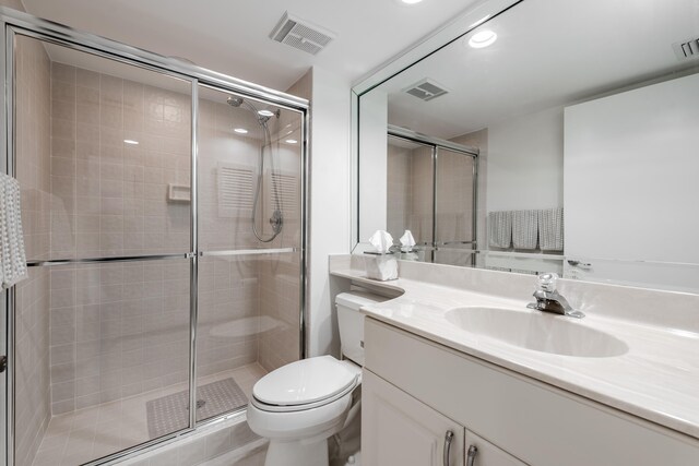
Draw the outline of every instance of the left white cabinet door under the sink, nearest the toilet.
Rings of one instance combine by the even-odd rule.
[[[451,432],[451,434],[449,434]],[[372,372],[362,381],[364,466],[463,466],[465,429]],[[449,439],[450,435],[453,435]],[[445,454],[448,452],[448,457]]]

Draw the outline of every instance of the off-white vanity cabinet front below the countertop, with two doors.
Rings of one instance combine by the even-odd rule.
[[[473,466],[699,465],[692,437],[371,316],[365,351],[366,466],[443,465],[448,430],[452,465],[470,445]]]

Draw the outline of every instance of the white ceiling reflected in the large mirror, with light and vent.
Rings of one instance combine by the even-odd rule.
[[[497,41],[467,39],[491,29]],[[699,71],[672,45],[699,37],[697,0],[525,0],[380,86],[389,122],[451,139],[498,121]],[[677,75],[677,74],[675,74]],[[449,93],[403,92],[430,77]]]

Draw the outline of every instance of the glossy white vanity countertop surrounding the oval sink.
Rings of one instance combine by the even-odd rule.
[[[588,313],[577,324],[617,337],[626,343],[628,351],[602,358],[560,356],[476,335],[445,318],[447,311],[459,307],[538,312],[526,309],[532,300],[529,297],[500,298],[408,278],[376,282],[354,268],[331,270],[331,275],[404,291],[398,298],[363,308],[367,315],[699,439],[699,333]]]

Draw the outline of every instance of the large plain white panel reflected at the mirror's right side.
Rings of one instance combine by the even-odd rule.
[[[566,255],[587,279],[696,290],[699,75],[566,108]],[[613,261],[608,261],[613,260]],[[677,288],[675,288],[677,289]]]

